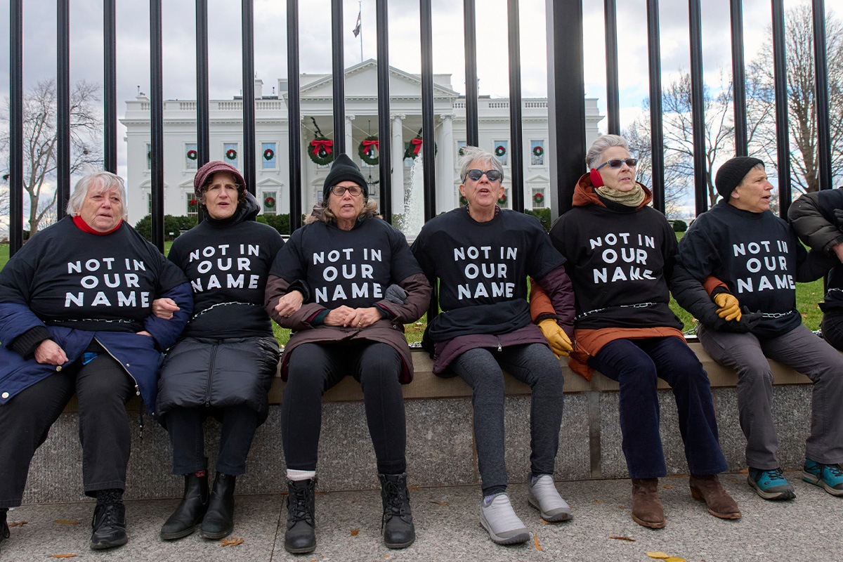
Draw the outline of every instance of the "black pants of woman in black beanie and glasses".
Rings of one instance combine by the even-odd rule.
[[[378,472],[406,471],[404,394],[398,376],[401,358],[387,344],[302,344],[290,357],[281,406],[282,444],[287,468],[315,470],[322,426],[322,393],[352,375],[363,391],[369,435]]]

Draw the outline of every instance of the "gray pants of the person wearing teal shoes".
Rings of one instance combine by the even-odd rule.
[[[701,327],[708,355],[738,373],[740,427],[746,436],[746,462],[752,468],[779,468],[773,425],[773,373],[767,357],[813,381],[811,432],[805,457],[824,464],[843,462],[843,355],[800,324],[785,335],[758,338]]]

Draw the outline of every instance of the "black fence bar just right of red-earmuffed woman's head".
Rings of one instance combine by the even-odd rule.
[[[647,0],[647,60],[650,71],[650,162],[652,206],[664,212],[664,131],[662,130],[662,47],[658,0]]]

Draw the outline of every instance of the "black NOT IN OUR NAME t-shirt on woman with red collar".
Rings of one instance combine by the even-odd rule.
[[[27,305],[45,324],[138,332],[153,299],[185,281],[125,221],[99,236],[68,216],[37,233],[0,271],[0,302]]]

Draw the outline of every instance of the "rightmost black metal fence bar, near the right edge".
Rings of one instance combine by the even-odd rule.
[[[832,187],[829,68],[825,47],[825,2],[813,0],[813,64],[817,93],[817,169],[820,190],[830,190]]]

